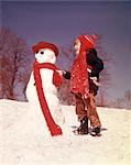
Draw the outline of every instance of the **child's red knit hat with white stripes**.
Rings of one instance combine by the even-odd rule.
[[[87,50],[94,47],[95,41],[98,38],[98,36],[96,34],[79,35],[77,38],[80,40],[83,50]]]

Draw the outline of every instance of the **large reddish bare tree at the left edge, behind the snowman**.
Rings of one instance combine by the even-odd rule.
[[[10,29],[0,30],[0,98],[19,100],[30,74],[30,51]]]

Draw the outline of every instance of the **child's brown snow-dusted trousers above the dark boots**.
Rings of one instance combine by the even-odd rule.
[[[81,94],[75,94],[75,100],[78,120],[80,121],[85,116],[87,116],[92,128],[100,128],[101,123],[96,110],[94,92],[90,92],[89,98],[87,99],[83,98]],[[87,110],[85,110],[85,108],[87,108]]]

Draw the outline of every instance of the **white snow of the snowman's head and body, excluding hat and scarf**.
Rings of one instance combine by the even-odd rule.
[[[40,64],[43,64],[43,63],[55,64],[56,62],[56,56],[54,52],[48,48],[41,48],[37,53],[35,53],[35,58],[36,58],[36,62]],[[47,102],[47,107],[51,111],[51,114],[54,121],[58,125],[63,125],[64,117],[62,113],[59,100],[57,98],[57,88],[53,84],[54,70],[51,68],[41,68],[40,75],[42,79],[42,89],[44,91],[44,97]],[[41,132],[43,132],[43,134],[50,134],[45,118],[42,113],[33,73],[31,74],[31,77],[26,87],[26,98],[30,102],[30,109],[32,111],[31,120],[34,119],[37,121],[39,124],[36,127],[37,129],[41,129]]]

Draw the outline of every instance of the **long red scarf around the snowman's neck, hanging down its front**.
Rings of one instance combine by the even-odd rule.
[[[44,114],[44,118],[45,118],[46,124],[48,127],[48,130],[51,132],[51,135],[52,136],[59,135],[59,134],[62,134],[62,129],[55,123],[55,121],[51,114],[51,111],[48,109],[48,106],[47,106],[47,102],[45,99],[44,90],[42,88],[42,78],[41,78],[41,74],[40,74],[41,68],[50,68],[55,72],[56,66],[51,63],[39,64],[35,61],[33,64],[33,75],[34,75],[34,80],[35,80],[35,86],[36,86],[36,91],[37,91],[37,97],[39,97],[39,101],[41,105],[41,109]],[[46,81],[45,81],[45,84],[46,84]]]

